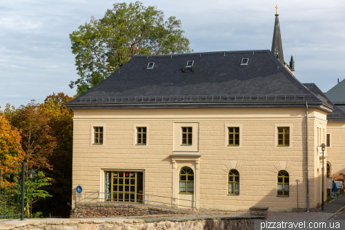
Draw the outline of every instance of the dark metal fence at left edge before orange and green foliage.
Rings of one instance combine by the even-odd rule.
[[[0,218],[24,220],[25,162],[0,162]]]

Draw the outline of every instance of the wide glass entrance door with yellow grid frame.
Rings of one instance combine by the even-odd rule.
[[[143,173],[133,171],[106,172],[106,201],[137,202],[143,200]]]

